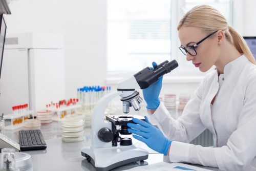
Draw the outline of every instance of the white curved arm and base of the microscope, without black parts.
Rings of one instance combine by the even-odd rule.
[[[126,84],[125,89],[131,89],[132,91],[117,91],[105,95],[94,108],[92,116],[92,144],[88,148],[83,148],[81,153],[97,170],[110,170],[127,163],[142,161],[148,158],[148,152],[145,149],[137,148],[134,145],[112,146],[111,141],[103,142],[98,138],[98,132],[103,127],[112,129],[111,122],[104,120],[104,111],[108,103],[118,95],[122,98],[127,97],[137,92],[134,88],[140,88],[135,77],[132,77],[129,82],[131,87]],[[122,88],[123,83],[119,84],[118,88]]]

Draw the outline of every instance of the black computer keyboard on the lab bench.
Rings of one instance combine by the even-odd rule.
[[[18,132],[21,151],[46,149],[47,145],[40,130],[25,130]]]

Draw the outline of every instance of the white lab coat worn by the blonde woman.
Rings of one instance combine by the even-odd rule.
[[[209,73],[177,120],[163,103],[151,117],[166,137],[174,140],[171,162],[256,170],[256,66],[244,55],[224,67],[220,82],[217,70]],[[206,128],[213,134],[214,147],[189,144]]]

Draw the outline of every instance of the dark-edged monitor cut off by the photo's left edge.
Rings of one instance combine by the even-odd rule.
[[[4,56],[4,46],[5,46],[5,35],[6,35],[6,23],[3,14],[0,14],[0,78],[2,70],[2,62]]]

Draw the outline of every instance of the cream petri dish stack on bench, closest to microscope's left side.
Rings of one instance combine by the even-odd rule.
[[[84,140],[84,119],[79,117],[60,120],[62,141],[78,142]]]

